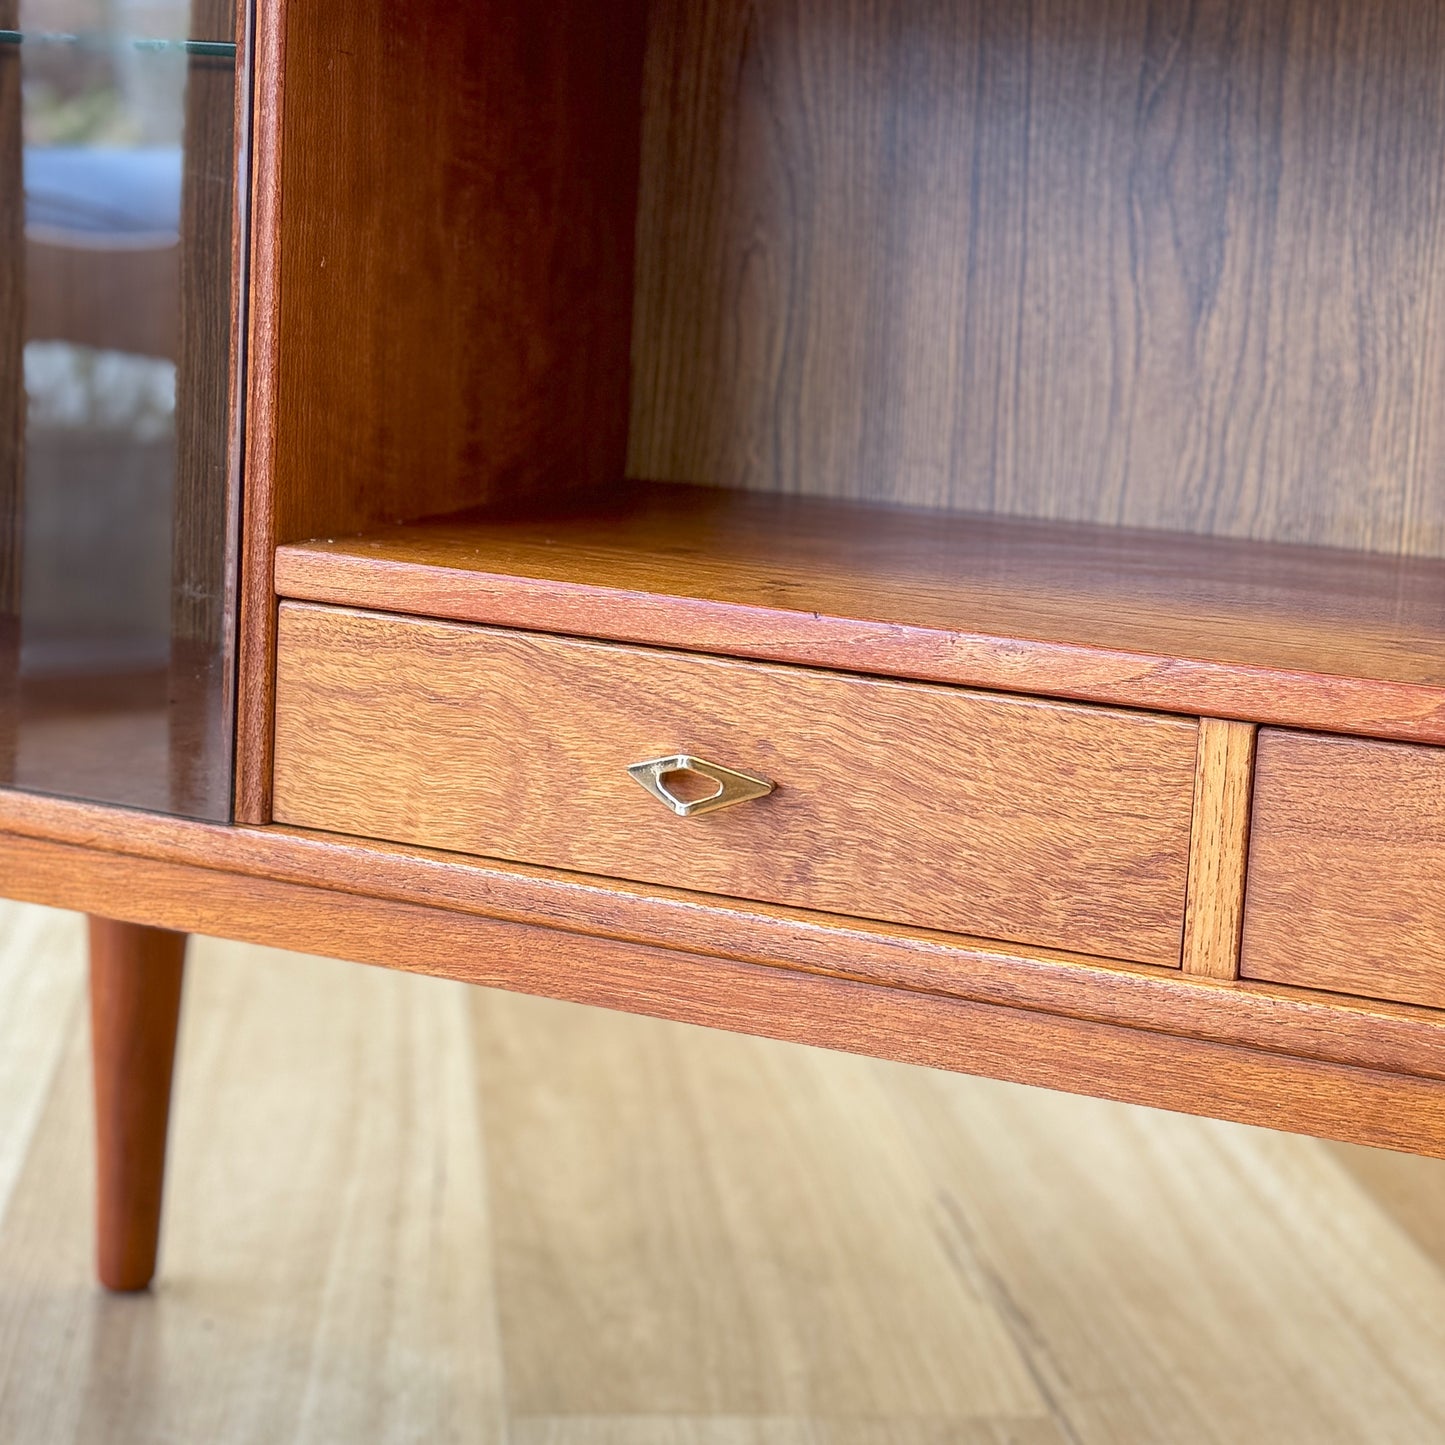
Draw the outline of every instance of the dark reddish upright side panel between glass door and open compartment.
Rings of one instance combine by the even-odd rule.
[[[276,540],[621,471],[643,9],[260,7],[244,821]]]

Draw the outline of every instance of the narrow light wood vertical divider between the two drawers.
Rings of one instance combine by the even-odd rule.
[[[1238,977],[1253,783],[1254,727],[1204,718],[1194,783],[1189,903],[1183,920],[1186,974]]]

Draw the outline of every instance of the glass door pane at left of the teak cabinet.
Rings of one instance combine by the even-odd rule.
[[[0,0],[0,783],[230,816],[233,9]]]

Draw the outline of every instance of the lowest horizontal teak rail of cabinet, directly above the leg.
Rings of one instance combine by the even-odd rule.
[[[7,892],[1046,1088],[1445,1155],[1445,1082],[0,837]],[[1188,987],[1188,985],[1185,985]]]

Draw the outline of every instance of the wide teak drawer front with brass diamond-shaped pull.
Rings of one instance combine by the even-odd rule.
[[[301,604],[277,647],[279,822],[1179,964],[1192,720]],[[675,816],[670,754],[776,790]]]

